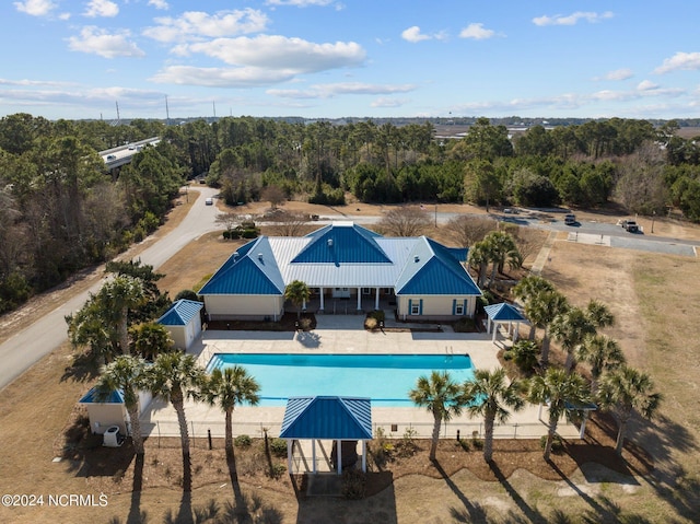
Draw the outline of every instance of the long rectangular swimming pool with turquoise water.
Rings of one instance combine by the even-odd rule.
[[[421,375],[447,371],[458,383],[474,379],[468,354],[217,353],[207,371],[235,364],[260,385],[260,406],[323,395],[369,397],[373,407],[413,407],[408,392]]]

